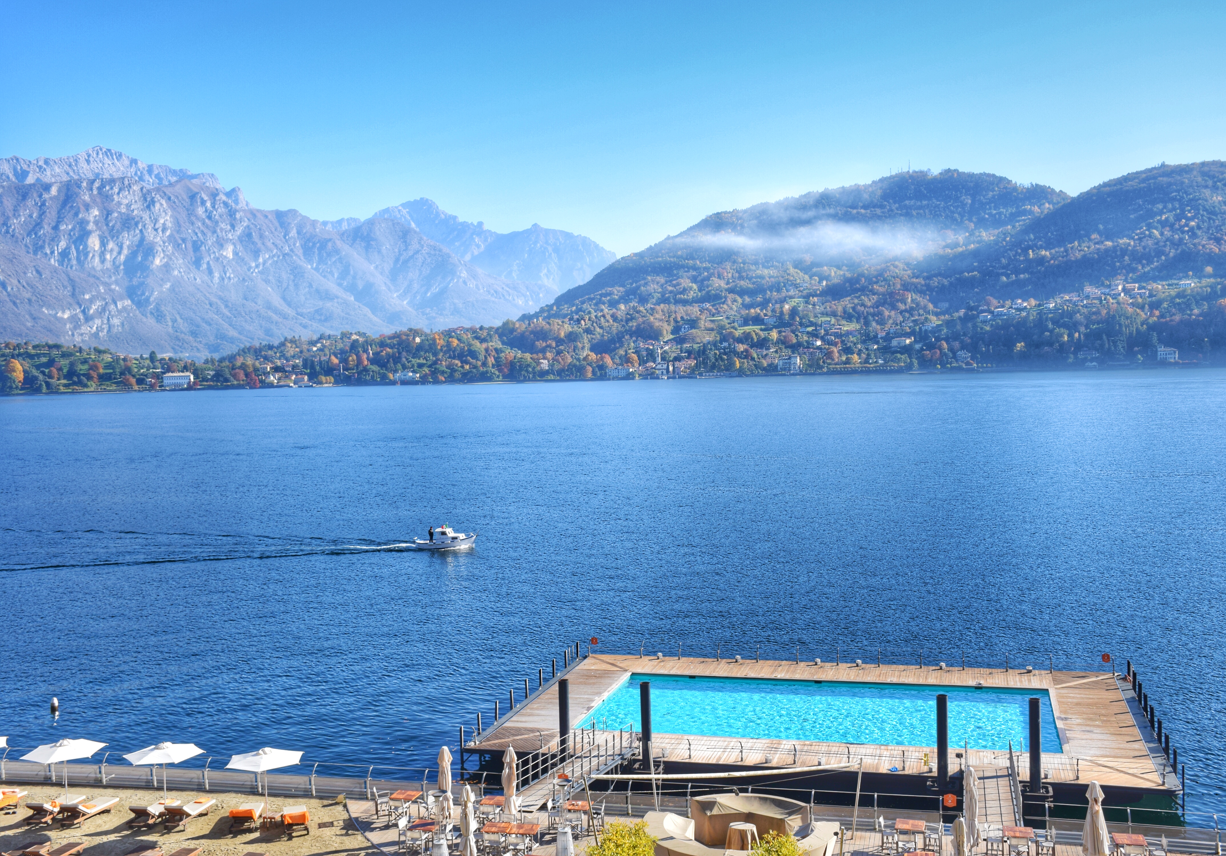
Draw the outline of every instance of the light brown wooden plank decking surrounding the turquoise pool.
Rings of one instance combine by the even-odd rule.
[[[1140,716],[1132,689],[1123,677],[1111,672],[1048,672],[1010,669],[939,669],[934,665],[885,665],[788,663],[745,660],[734,663],[715,658],[662,658],[638,655],[592,655],[568,674],[570,685],[570,726],[581,723],[628,674],[684,675],[707,677],[782,678],[804,681],[863,681],[873,683],[1046,689],[1052,700],[1060,736],[1062,752],[1043,753],[1043,768],[1049,781],[1096,779],[1102,785],[1173,789],[1173,776],[1163,774],[1165,759],[1154,735]],[[558,693],[548,686],[526,704],[521,703],[498,725],[482,735],[481,751],[500,752],[508,743],[516,752],[531,752],[558,736]],[[612,724],[609,724],[612,727]],[[788,740],[729,740],[696,735],[655,734],[656,757],[693,760],[702,764],[737,764],[781,768],[810,764],[846,763],[863,759],[864,770],[899,774],[935,772],[935,747],[874,746]],[[1020,747],[1019,747],[1020,748]],[[950,747],[950,753],[961,747]],[[928,763],[924,764],[927,754]],[[976,769],[1008,768],[1008,753],[970,749],[966,758],[950,758],[950,770],[960,764]],[[1027,764],[1018,756],[1019,774],[1027,780]]]

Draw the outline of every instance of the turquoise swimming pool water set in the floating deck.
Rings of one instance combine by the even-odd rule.
[[[949,745],[972,749],[1004,749],[1009,741],[1029,748],[1027,699],[1037,697],[1043,751],[1063,751],[1046,689],[630,675],[582,725],[640,729],[640,681],[651,682],[651,729],[660,734],[885,746],[935,746],[943,692]]]

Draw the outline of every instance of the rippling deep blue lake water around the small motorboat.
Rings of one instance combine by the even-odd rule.
[[[1110,651],[1226,811],[1224,415],[1220,370],[0,399],[0,734],[424,767],[593,636]]]

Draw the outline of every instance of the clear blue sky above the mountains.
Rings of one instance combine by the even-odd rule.
[[[428,196],[618,253],[908,162],[1075,193],[1226,154],[1221,2],[13,0],[5,20],[0,157],[102,145],[264,208]]]

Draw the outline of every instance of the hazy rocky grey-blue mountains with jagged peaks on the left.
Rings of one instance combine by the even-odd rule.
[[[428,200],[441,234],[461,224]],[[0,338],[218,354],[286,336],[498,323],[612,257],[533,227],[497,235],[492,274],[403,216],[321,223],[262,211],[208,173],[102,147],[0,159]],[[342,228],[337,228],[341,225]],[[536,238],[538,235],[543,238]],[[471,258],[481,249],[465,246]],[[552,253],[552,255],[549,255]],[[569,277],[569,278],[568,278]]]

